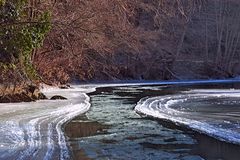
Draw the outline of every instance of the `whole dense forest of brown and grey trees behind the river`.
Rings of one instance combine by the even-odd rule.
[[[0,83],[229,78],[238,0],[0,0]]]

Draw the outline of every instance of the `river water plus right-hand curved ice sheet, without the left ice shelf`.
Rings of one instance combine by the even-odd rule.
[[[239,84],[102,87],[65,126],[73,159],[240,157]]]

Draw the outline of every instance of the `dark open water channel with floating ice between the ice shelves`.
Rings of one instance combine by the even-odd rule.
[[[98,88],[91,109],[65,126],[73,159],[239,160],[240,146],[134,111],[143,97],[175,95],[190,88],[239,88],[239,84]]]

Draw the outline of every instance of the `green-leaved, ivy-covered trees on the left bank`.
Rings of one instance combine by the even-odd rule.
[[[50,30],[50,12],[35,11],[27,0],[0,1],[0,83],[18,84],[38,77],[34,50]]]

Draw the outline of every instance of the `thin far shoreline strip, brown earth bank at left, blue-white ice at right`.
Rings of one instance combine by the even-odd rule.
[[[17,102],[32,102],[37,100],[47,99],[44,95],[44,90],[59,88],[71,89],[73,86],[83,87],[113,87],[113,86],[133,86],[133,85],[201,85],[201,84],[218,84],[218,83],[240,83],[239,78],[232,79],[206,79],[206,80],[119,80],[119,81],[89,81],[80,84],[65,84],[58,86],[49,86],[47,84],[25,84],[25,85],[0,85],[0,103],[17,103]]]

